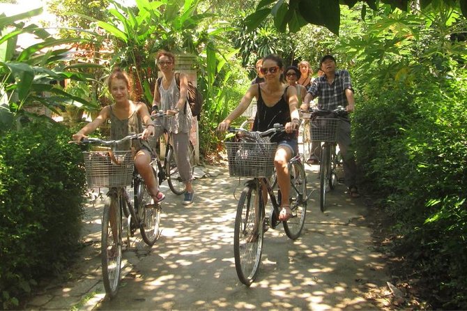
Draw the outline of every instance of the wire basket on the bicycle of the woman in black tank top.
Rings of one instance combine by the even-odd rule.
[[[275,142],[226,142],[230,176],[270,177],[274,172]]]

